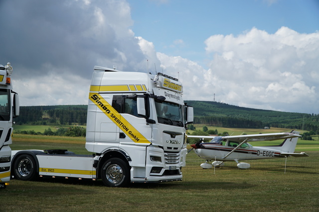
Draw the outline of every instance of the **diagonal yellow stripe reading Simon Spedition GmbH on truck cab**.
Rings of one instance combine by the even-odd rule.
[[[89,99],[109,117],[132,141],[136,143],[151,143],[136,130],[123,116],[118,113],[100,94],[90,93]]]

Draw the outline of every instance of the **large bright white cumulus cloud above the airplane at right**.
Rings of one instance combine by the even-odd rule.
[[[318,80],[313,79],[318,79],[318,32],[300,34],[281,27],[275,34],[268,34],[253,28],[237,37],[213,35],[205,44],[211,55],[209,68],[217,79],[210,85],[224,102],[284,111],[318,111],[318,104],[305,104],[319,101]]]

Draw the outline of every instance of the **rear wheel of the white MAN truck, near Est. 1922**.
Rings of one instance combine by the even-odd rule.
[[[19,180],[33,180],[36,176],[36,164],[32,156],[19,155],[14,161],[14,175]]]

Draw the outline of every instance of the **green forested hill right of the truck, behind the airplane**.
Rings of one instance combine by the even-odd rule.
[[[279,127],[319,131],[319,115],[238,107],[212,101],[185,101],[194,123],[236,128]]]

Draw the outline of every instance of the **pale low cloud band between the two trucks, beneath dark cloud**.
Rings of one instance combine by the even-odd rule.
[[[14,75],[13,75],[14,78]],[[83,78],[70,72],[48,73],[30,79],[13,79],[20,105],[86,105],[91,78]]]

